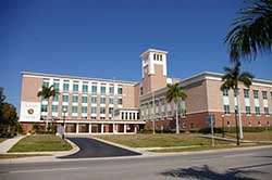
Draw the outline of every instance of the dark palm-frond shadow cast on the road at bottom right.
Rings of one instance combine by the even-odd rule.
[[[259,165],[261,166],[261,165]],[[189,168],[178,168],[169,170],[165,172],[161,172],[162,176],[173,177],[173,178],[186,178],[186,179],[239,179],[239,180],[255,180],[250,178],[248,173],[263,173],[257,170],[240,170],[240,169],[231,169],[226,172],[217,172],[209,168],[208,165],[203,165],[202,167],[189,167]]]

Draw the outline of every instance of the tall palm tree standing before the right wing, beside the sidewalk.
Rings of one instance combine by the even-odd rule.
[[[236,62],[233,68],[224,67],[225,75],[222,77],[222,86],[221,90],[224,89],[233,89],[234,97],[236,97],[237,100],[237,106],[238,108],[235,111],[235,123],[236,123],[236,138],[237,138],[237,145],[239,145],[239,139],[243,138],[243,127],[242,127],[242,120],[240,120],[240,104],[239,104],[239,89],[238,85],[239,82],[244,83],[245,87],[249,88],[252,82],[254,75],[251,75],[248,72],[240,73],[240,62]],[[238,113],[238,117],[237,117]],[[239,119],[237,119],[239,118]],[[239,120],[239,126],[238,126]],[[239,129],[238,129],[239,127]]]

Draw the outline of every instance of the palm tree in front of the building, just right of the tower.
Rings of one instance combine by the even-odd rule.
[[[166,102],[168,103],[174,102],[175,104],[176,133],[180,133],[178,114],[177,114],[178,101],[185,100],[186,98],[187,98],[187,94],[184,92],[184,89],[178,83],[168,85]]]

